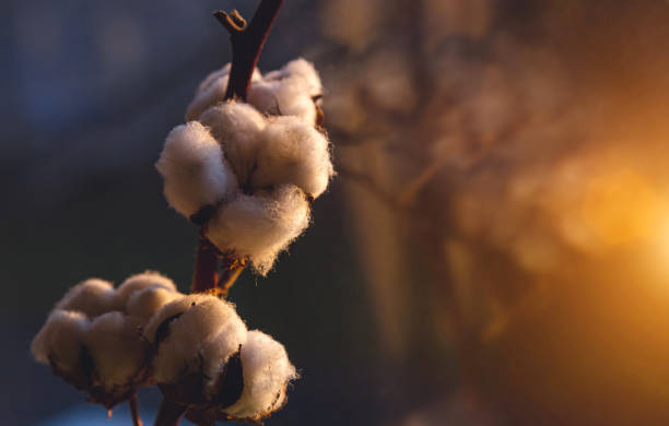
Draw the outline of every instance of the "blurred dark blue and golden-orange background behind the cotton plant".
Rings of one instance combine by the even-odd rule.
[[[1,424],[130,424],[30,342],[89,276],[188,288],[153,163],[256,4],[3,2]],[[298,56],[339,176],[232,289],[302,371],[268,425],[668,424],[669,2],[286,0],[259,66]]]

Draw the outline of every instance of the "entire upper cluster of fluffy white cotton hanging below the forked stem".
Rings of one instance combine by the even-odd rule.
[[[230,66],[211,73],[156,163],[168,203],[222,251],[266,274],[309,224],[309,203],[334,174],[317,129],[321,84],[304,59],[265,76],[248,103],[224,100]]]

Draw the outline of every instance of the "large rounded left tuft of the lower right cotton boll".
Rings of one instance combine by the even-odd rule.
[[[144,329],[144,336],[156,351],[153,358],[156,381],[178,386],[190,372],[215,370],[215,366],[206,365],[201,351],[223,331],[231,340],[220,346],[232,352],[246,339],[246,326],[233,306],[215,296],[193,294],[165,305]],[[224,359],[231,353],[219,355]],[[202,394],[203,389],[196,393]]]

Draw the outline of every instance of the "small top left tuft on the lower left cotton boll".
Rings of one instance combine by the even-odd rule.
[[[77,284],[56,304],[56,309],[78,310],[90,318],[108,312],[115,307],[114,285],[99,279],[89,279]]]

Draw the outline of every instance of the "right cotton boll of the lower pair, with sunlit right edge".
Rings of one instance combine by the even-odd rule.
[[[247,331],[234,306],[193,294],[164,306],[144,329],[155,380],[166,399],[200,424],[258,421],[283,406],[296,378],[283,345]]]

